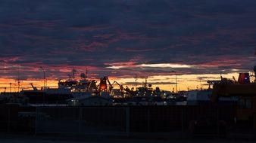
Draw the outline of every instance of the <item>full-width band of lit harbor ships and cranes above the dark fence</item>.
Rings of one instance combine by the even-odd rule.
[[[255,72],[254,67],[254,72]],[[72,70],[72,76],[67,80],[58,81],[56,87],[35,87],[31,83],[31,90],[20,90],[17,92],[1,92],[2,103],[13,103],[21,106],[127,106],[127,105],[208,105],[214,102],[223,105],[240,104],[240,94],[254,95],[254,75],[240,73],[239,77],[233,79],[223,78],[220,80],[208,80],[207,89],[196,90],[161,90],[153,88],[148,83],[148,77],[141,86],[124,86],[117,81],[110,81],[107,76],[99,80],[88,78],[88,71],[76,77],[76,70]],[[76,80],[79,79],[79,80]],[[135,79],[137,81],[137,78]],[[18,81],[19,82],[19,81]],[[229,91],[222,85],[232,88]],[[242,91],[236,90],[241,87]],[[243,90],[243,88],[247,89]],[[11,90],[11,89],[10,89]],[[231,90],[231,89],[230,89]],[[226,92],[226,93],[224,93]],[[251,92],[251,93],[249,93]],[[229,94],[230,95],[226,95]]]

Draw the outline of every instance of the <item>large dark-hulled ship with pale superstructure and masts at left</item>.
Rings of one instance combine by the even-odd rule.
[[[73,76],[69,76],[67,80],[58,81],[57,88],[42,87],[40,90],[34,87],[33,90],[21,90],[15,98],[23,97],[30,104],[67,104],[68,99],[84,98],[89,96],[109,96],[109,93],[104,87],[105,78],[101,78],[100,84],[96,84],[95,80],[89,80],[86,74],[80,74],[80,80],[75,78],[75,69],[73,69]],[[103,83],[103,84],[102,84]],[[105,86],[104,86],[105,85]]]

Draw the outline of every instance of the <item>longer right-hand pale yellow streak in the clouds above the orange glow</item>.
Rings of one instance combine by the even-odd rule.
[[[170,64],[170,63],[156,63],[156,64],[142,64],[142,67],[151,68],[192,68],[192,65]]]

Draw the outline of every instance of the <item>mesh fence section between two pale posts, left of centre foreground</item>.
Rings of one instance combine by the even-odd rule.
[[[129,108],[39,107],[36,133],[123,135],[129,132]]]

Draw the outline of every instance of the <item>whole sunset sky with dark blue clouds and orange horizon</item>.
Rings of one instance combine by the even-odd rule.
[[[255,0],[0,0],[0,91],[108,76],[207,88],[255,65]],[[176,71],[176,73],[172,72]],[[19,75],[19,76],[18,76]]]

